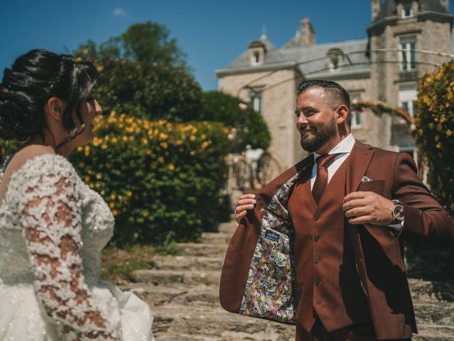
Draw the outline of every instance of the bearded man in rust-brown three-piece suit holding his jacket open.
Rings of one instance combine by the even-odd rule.
[[[336,82],[302,82],[295,114],[301,146],[313,154],[256,195],[241,197],[221,305],[232,313],[242,308],[260,209],[299,173],[285,198],[294,229],[297,340],[409,340],[416,323],[404,241],[423,249],[452,247],[452,218],[421,183],[407,153],[355,141],[350,97]]]

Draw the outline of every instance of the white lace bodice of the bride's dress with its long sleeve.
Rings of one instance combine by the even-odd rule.
[[[91,298],[113,229],[109,207],[65,158],[35,156],[0,203],[0,284],[33,283],[61,340],[119,340]]]

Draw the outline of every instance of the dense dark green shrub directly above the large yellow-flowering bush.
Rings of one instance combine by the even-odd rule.
[[[183,67],[104,60],[96,97],[104,112],[147,119],[199,120],[202,90]]]

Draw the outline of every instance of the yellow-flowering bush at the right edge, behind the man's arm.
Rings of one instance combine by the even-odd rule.
[[[450,215],[454,214],[454,61],[424,75],[416,102],[416,144],[428,166],[431,192]],[[454,251],[406,249],[409,276],[454,278]]]

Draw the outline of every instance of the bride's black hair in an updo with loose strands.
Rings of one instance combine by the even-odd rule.
[[[0,83],[0,138],[28,139],[45,126],[44,108],[50,97],[66,102],[62,124],[66,131],[75,128],[72,111],[83,123],[80,104],[96,85],[92,63],[78,63],[71,55],[48,50],[31,50],[4,70]]]

